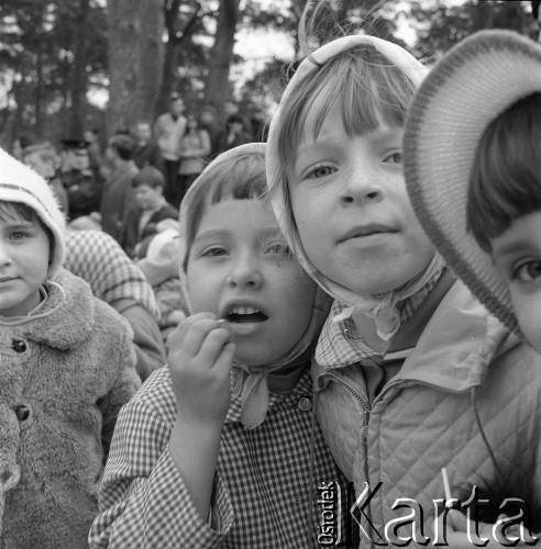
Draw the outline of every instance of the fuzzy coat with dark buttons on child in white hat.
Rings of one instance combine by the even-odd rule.
[[[62,270],[35,320],[0,325],[0,546],[88,547],[120,407],[135,393],[132,332]],[[42,313],[48,313],[45,316]],[[3,506],[3,516],[2,513]]]

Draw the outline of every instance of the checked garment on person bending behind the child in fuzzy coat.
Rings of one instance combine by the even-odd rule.
[[[114,238],[101,231],[68,231],[64,267],[85,279],[106,303],[131,299],[158,321],[154,291]]]

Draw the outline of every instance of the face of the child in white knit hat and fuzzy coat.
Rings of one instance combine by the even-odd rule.
[[[37,220],[0,219],[0,315],[24,316],[37,306],[48,264],[48,236]]]

